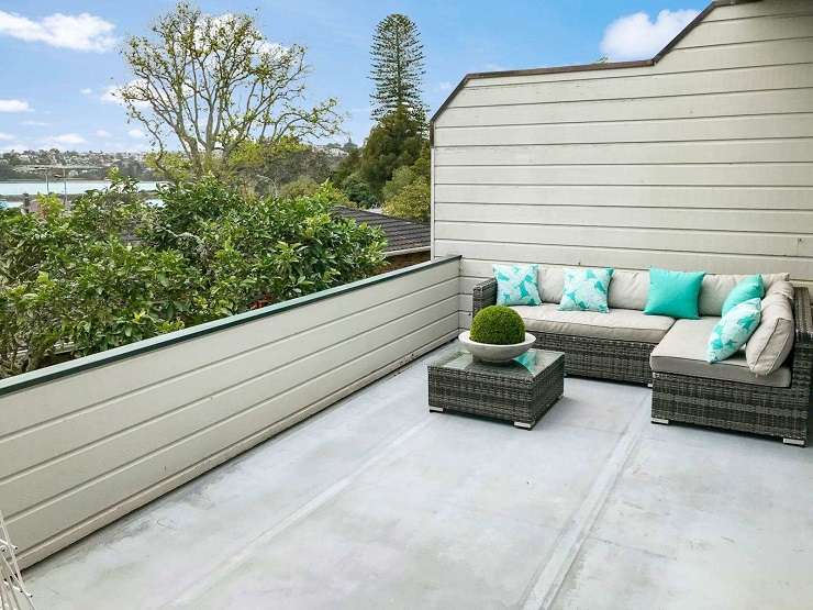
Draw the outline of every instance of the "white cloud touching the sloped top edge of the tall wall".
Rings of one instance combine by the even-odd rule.
[[[639,12],[613,21],[604,31],[601,52],[610,59],[647,59],[698,16],[694,10],[662,10],[655,21]]]

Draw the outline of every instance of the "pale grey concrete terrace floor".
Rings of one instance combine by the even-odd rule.
[[[530,432],[428,413],[441,352],[29,569],[37,607],[813,608],[813,448],[575,378]]]

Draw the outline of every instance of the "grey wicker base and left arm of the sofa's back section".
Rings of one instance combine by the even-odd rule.
[[[491,278],[475,286],[471,314],[494,302],[497,280]],[[649,354],[655,350],[655,343],[528,332],[536,337],[534,347],[566,354],[565,371],[568,375],[635,384],[651,382]]]

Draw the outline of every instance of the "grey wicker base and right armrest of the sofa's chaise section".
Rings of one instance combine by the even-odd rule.
[[[808,441],[813,368],[813,321],[810,292],[797,288],[793,299],[795,343],[791,385],[772,388],[655,373],[653,418]]]

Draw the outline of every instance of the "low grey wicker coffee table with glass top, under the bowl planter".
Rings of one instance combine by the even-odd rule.
[[[528,350],[508,364],[455,352],[428,366],[430,411],[508,420],[530,430],[561,398],[565,354]]]

